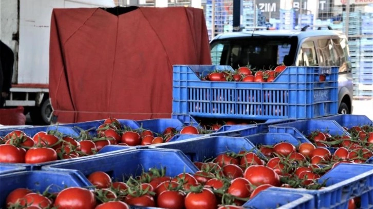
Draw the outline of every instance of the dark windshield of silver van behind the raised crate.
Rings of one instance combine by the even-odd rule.
[[[213,65],[249,66],[269,70],[278,65],[294,64],[297,37],[250,37],[215,40],[211,43]]]

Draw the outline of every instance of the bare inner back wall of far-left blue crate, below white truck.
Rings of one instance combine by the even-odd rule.
[[[44,131],[44,132],[58,131],[58,132],[61,132],[62,134],[66,135],[66,136],[72,136],[72,137],[79,136],[79,132],[77,132],[77,130],[75,130],[74,128],[71,128],[71,127],[41,126],[41,127],[22,128],[22,129],[14,128],[14,129],[8,129],[8,130],[0,130],[0,137],[4,137],[7,134],[9,134],[10,132],[15,131],[15,130],[23,131],[23,132],[25,132],[25,134],[27,136],[30,136],[31,138],[36,133],[41,132],[41,131]]]

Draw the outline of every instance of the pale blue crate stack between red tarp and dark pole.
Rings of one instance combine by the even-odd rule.
[[[224,1],[215,0],[214,1],[214,31],[213,31],[213,5],[212,0],[207,0],[206,2],[206,26],[209,37],[211,38],[214,34],[223,33],[224,26],[227,24],[227,11],[225,11]]]

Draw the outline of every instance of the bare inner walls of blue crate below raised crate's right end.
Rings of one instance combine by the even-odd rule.
[[[299,120],[269,126],[269,133],[288,133],[300,141],[308,140],[306,136],[313,131],[328,131],[330,135],[349,135],[340,124],[325,119]]]

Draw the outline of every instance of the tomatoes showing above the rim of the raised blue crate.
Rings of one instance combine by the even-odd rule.
[[[214,71],[209,73],[202,80],[209,81],[236,81],[236,82],[272,82],[276,76],[283,72],[286,66],[277,66],[274,70],[252,71],[248,67],[239,67],[234,72]]]

